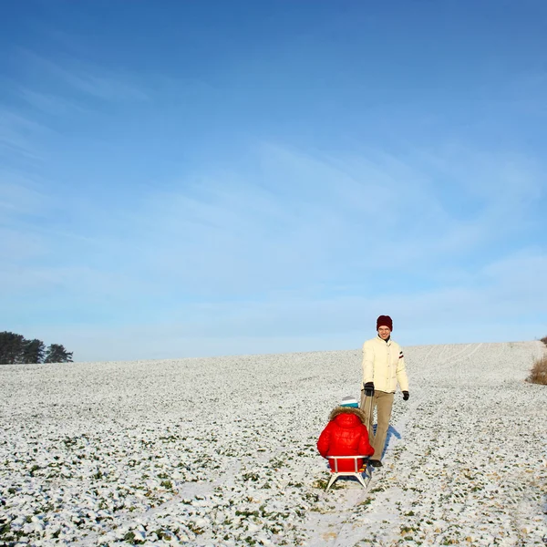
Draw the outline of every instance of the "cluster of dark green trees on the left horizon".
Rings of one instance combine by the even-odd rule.
[[[42,340],[26,340],[23,335],[0,333],[0,364],[72,363],[72,354],[62,344],[46,344]]]

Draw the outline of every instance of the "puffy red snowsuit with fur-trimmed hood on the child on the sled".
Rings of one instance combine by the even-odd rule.
[[[368,442],[365,413],[359,408],[336,407],[329,416],[329,422],[319,436],[317,449],[323,458],[327,456],[372,456],[374,449]],[[354,459],[338,459],[339,471],[353,471]],[[331,469],[334,462],[329,460]],[[357,460],[357,469],[363,459]]]

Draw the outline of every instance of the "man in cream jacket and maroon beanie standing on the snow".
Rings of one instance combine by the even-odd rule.
[[[389,315],[377,318],[377,337],[363,345],[363,389],[361,409],[365,412],[368,435],[374,447],[374,467],[382,466],[382,453],[386,444],[387,428],[391,418],[393,397],[397,383],[408,401],[408,377],[405,357],[401,347],[391,339],[393,321]],[[377,431],[373,437],[372,419],[377,408]]]

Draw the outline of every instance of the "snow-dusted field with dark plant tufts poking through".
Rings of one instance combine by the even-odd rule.
[[[385,467],[327,493],[360,350],[0,366],[0,544],[542,545],[543,349],[405,348]]]

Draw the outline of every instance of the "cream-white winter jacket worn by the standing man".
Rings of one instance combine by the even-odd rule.
[[[405,356],[401,346],[379,336],[363,345],[363,383],[374,382],[378,391],[395,393],[397,382],[401,391],[408,391]]]

